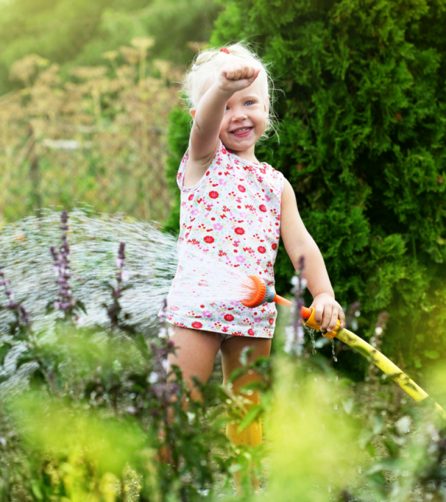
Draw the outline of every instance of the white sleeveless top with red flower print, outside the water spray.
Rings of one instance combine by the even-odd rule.
[[[197,246],[246,275],[258,275],[274,284],[283,174],[266,163],[256,164],[238,157],[220,142],[203,178],[196,185],[185,187],[188,156],[189,151],[177,175],[181,190],[178,245]],[[181,305],[168,303],[164,315],[168,323],[183,328],[270,338],[277,310],[274,303],[252,309],[240,301],[203,303],[199,298],[190,298]]]

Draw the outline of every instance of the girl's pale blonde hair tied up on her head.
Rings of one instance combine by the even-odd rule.
[[[237,59],[244,59],[261,68],[257,79],[261,84],[261,92],[266,105],[268,105],[268,96],[270,97],[268,105],[269,118],[266,130],[271,128],[275,130],[273,123],[275,123],[276,120],[272,110],[275,87],[269,70],[270,63],[266,63],[257,56],[254,50],[252,50],[252,46],[247,42],[238,42],[233,45],[222,47],[222,49],[223,48],[224,50],[220,50],[220,48],[211,47],[210,49],[199,52],[197,56],[195,56],[182,82],[183,86],[181,91],[183,96],[185,96],[184,100],[187,106],[189,108],[197,108],[199,101],[203,97],[206,83],[211,78],[217,78],[218,72],[224,64],[230,61],[236,61]]]

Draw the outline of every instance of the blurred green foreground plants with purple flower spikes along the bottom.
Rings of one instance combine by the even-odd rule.
[[[233,379],[257,372],[262,381],[240,395],[231,382],[197,381],[203,400],[192,401],[178,368],[167,367],[175,348],[166,328],[143,335],[120,306],[129,286],[121,243],[103,305],[109,326],[82,328],[83,298],[69,287],[66,213],[62,222],[54,332],[33,330],[0,270],[0,307],[10,314],[0,333],[1,502],[231,501],[236,471],[245,480],[238,500],[252,502],[444,499],[446,429],[431,402],[415,406],[374,367],[365,385],[341,377],[305,343],[298,318],[282,317],[274,358],[250,362],[242,353]],[[437,367],[431,382],[443,405],[445,381]],[[256,390],[261,404],[249,408]],[[266,446],[226,441],[228,420],[243,429],[257,418]],[[260,499],[250,490],[253,469]]]

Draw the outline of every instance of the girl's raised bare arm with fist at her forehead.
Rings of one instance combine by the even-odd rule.
[[[212,162],[218,149],[220,126],[229,98],[249,87],[259,73],[260,68],[244,61],[227,63],[203,94],[197,109],[190,110],[194,124],[190,132],[185,186],[197,183]]]

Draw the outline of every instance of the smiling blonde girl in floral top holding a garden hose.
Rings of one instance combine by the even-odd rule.
[[[334,293],[321,252],[298,213],[293,188],[270,165],[259,162],[256,142],[270,125],[270,77],[264,63],[245,45],[201,52],[185,77],[193,126],[189,149],[178,170],[181,190],[179,245],[196,246],[246,275],[274,283],[273,265],[279,236],[293,264],[305,257],[305,279],[314,301],[316,321],[332,330],[344,312]],[[187,291],[184,292],[187,296]],[[240,366],[240,352],[252,359],[269,356],[276,309],[266,303],[249,312],[240,302],[167,305],[167,321],[177,350],[169,365],[178,365],[186,381],[207,381],[217,352],[222,353],[224,383]],[[256,374],[236,381],[234,391]],[[249,396],[259,402],[258,393]],[[226,435],[236,445],[261,443],[261,425]],[[238,492],[240,480],[236,479]],[[254,480],[256,489],[258,482]]]

